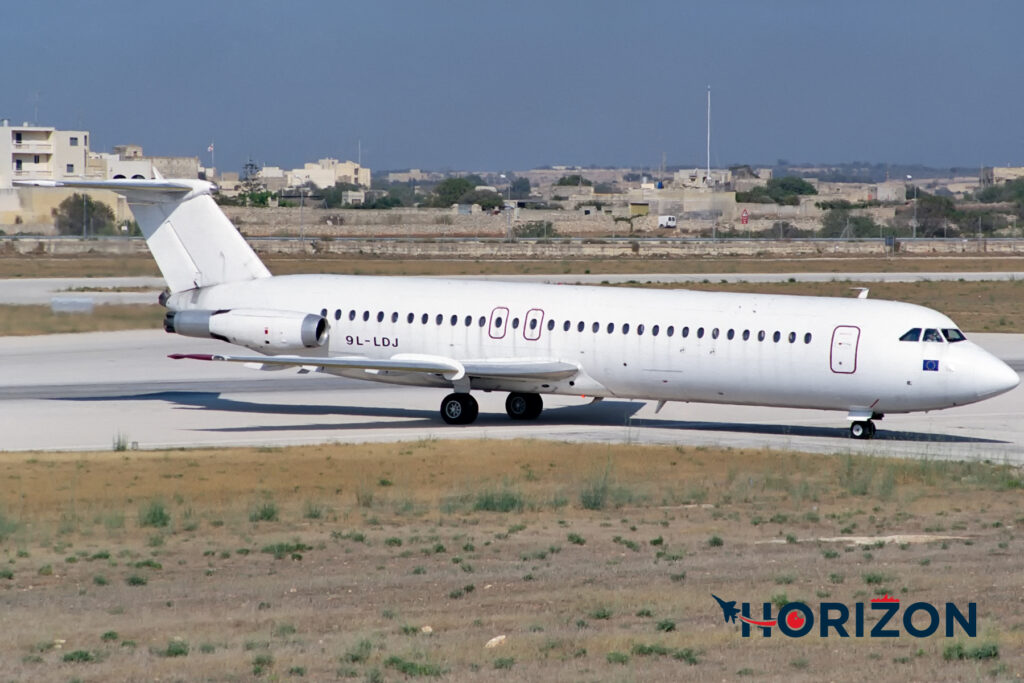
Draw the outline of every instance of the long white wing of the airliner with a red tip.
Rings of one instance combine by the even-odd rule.
[[[425,373],[441,375],[446,380],[464,377],[486,379],[561,380],[574,376],[580,369],[568,362],[549,359],[478,359],[456,360],[443,356],[419,353],[399,353],[390,358],[362,356],[310,357],[304,355],[221,355],[208,353],[174,353],[169,357],[179,360],[223,360],[228,362],[258,364],[264,367],[332,368],[338,370],[366,370],[370,372]]]

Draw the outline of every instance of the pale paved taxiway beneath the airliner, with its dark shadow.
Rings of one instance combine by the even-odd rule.
[[[1020,371],[1024,335],[971,335]],[[0,451],[291,445],[421,438],[727,445],[1024,463],[1024,388],[931,414],[893,415],[871,441],[823,411],[545,396],[535,423],[513,423],[505,395],[476,392],[480,417],[445,425],[443,390],[295,371],[171,360],[226,346],[162,331],[0,338]]]

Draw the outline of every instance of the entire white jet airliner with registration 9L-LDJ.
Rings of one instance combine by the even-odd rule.
[[[887,414],[996,396],[1020,378],[924,306],[857,298],[626,290],[413,276],[271,275],[195,179],[19,181],[123,195],[167,283],[164,328],[252,354],[176,358],[297,368],[436,387],[445,423],[508,392],[846,412],[871,438]]]

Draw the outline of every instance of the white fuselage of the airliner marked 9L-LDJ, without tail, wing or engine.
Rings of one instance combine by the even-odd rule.
[[[900,341],[911,328],[956,326],[935,310],[884,300],[312,274],[217,285],[168,301],[172,310],[256,306],[323,312],[330,337],[301,352],[311,360],[422,353],[557,359],[580,371],[560,380],[479,379],[474,390],[840,410],[866,418],[963,405],[1018,382],[970,340]],[[439,375],[325,371],[452,386]]]

